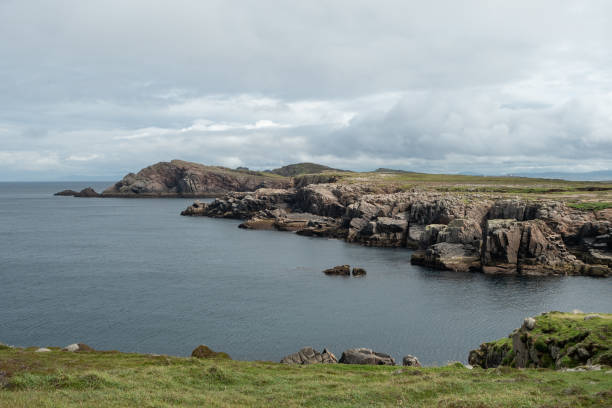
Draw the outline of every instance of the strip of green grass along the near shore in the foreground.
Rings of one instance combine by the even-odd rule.
[[[0,384],[0,407],[612,406],[610,369],[288,366],[5,348]]]

